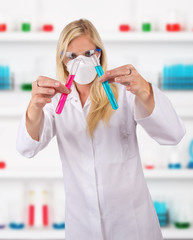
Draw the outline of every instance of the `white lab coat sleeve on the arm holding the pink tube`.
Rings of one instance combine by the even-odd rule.
[[[52,103],[47,104],[43,109],[43,117],[40,123],[39,141],[31,138],[26,128],[26,112],[23,114],[19,124],[16,148],[24,157],[34,157],[40,150],[45,148],[55,136],[54,114]]]

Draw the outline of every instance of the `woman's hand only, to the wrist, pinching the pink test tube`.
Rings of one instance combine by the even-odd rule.
[[[37,109],[42,109],[47,103],[51,102],[56,93],[69,94],[70,92],[71,90],[61,82],[40,76],[32,84],[30,105],[33,105]]]

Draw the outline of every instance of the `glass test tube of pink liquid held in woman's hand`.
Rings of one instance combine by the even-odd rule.
[[[74,78],[75,78],[76,72],[78,70],[78,66],[80,64],[80,61],[81,61],[81,59],[75,59],[73,65],[72,65],[72,68],[70,70],[70,73],[68,75],[68,78],[66,80],[65,86],[69,89],[71,88],[72,83],[74,81]],[[65,94],[65,93],[61,94],[60,100],[59,100],[58,105],[56,107],[56,113],[57,114],[60,114],[62,112],[64,104],[65,104],[66,99],[67,99],[67,96],[68,96],[68,94]]]

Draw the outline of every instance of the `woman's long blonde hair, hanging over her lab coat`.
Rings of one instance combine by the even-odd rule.
[[[80,19],[69,23],[60,34],[57,45],[56,65],[57,77],[61,82],[65,82],[68,76],[68,71],[65,64],[63,63],[67,47],[73,39],[85,34],[90,38],[92,43],[96,45],[97,48],[100,48],[102,50],[100,63],[103,70],[106,71],[107,58],[102,40],[96,28],[90,21],[86,19]],[[111,84],[111,89],[115,98],[118,100],[117,87],[114,84]],[[109,119],[114,111],[111,107],[111,104],[109,103],[108,97],[102,84],[98,82],[98,76],[94,79],[90,88],[90,100],[91,107],[87,116],[87,130],[92,137],[94,130],[96,129],[100,120],[108,125]]]

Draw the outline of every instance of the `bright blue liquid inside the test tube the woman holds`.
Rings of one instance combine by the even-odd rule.
[[[102,67],[100,65],[99,66],[95,66],[95,69],[96,69],[97,74],[98,74],[99,77],[101,77],[104,74],[103,69],[102,69]],[[117,101],[116,101],[116,99],[114,97],[114,94],[113,94],[113,92],[111,90],[111,87],[110,87],[108,81],[103,82],[102,85],[103,85],[103,87],[105,89],[105,92],[107,94],[107,97],[109,99],[109,102],[110,102],[112,108],[114,110],[116,110],[119,106],[117,104]]]

